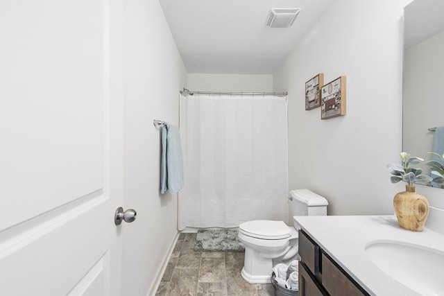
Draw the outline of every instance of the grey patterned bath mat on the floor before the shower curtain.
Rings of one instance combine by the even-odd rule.
[[[244,252],[237,229],[199,229],[195,251]]]

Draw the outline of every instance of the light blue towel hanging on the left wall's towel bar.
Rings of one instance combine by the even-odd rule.
[[[183,160],[179,129],[164,123],[162,127],[162,157],[160,161],[160,193],[177,193],[183,188]]]

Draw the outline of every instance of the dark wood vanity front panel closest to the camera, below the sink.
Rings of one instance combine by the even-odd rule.
[[[361,296],[368,295],[355,284],[355,280],[346,275],[342,268],[334,263],[330,256],[322,252],[322,285],[327,292],[332,295],[340,296]]]

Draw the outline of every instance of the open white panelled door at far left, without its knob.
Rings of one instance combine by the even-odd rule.
[[[1,295],[120,294],[113,59],[107,0],[0,1]]]

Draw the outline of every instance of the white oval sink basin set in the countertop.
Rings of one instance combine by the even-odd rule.
[[[371,241],[366,255],[389,277],[421,295],[444,295],[444,252],[400,241]]]

